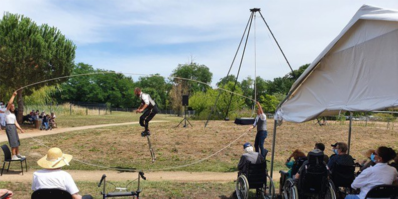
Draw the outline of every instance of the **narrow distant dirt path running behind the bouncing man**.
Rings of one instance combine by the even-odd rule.
[[[157,120],[151,121],[151,123],[155,122],[168,122],[166,120]],[[99,124],[99,125],[90,125],[90,126],[76,126],[76,127],[68,127],[68,128],[54,128],[53,130],[28,130],[26,133],[19,133],[19,139],[37,137],[42,135],[52,135],[57,133],[65,133],[68,131],[76,131],[76,130],[86,130],[92,128],[100,128],[100,127],[107,127],[107,126],[121,126],[121,125],[131,125],[131,124],[138,124],[139,122],[125,122],[125,123],[113,123],[113,124]],[[8,141],[7,135],[5,135],[5,131],[1,131],[0,133],[0,142]]]

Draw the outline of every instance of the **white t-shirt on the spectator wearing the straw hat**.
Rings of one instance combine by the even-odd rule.
[[[33,173],[32,190],[61,189],[74,195],[79,189],[73,181],[72,176],[61,169],[42,169]]]

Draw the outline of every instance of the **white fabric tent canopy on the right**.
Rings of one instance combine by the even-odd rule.
[[[294,83],[275,118],[304,122],[395,106],[398,10],[363,5]]]

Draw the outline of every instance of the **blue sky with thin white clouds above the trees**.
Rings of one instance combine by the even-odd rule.
[[[228,72],[250,8],[261,8],[298,69],[311,63],[363,4],[398,9],[398,0],[0,0],[0,10],[57,27],[76,44],[76,63],[167,77],[178,64],[194,61],[210,69],[215,85]],[[258,13],[239,80],[255,71],[266,80],[290,72]]]

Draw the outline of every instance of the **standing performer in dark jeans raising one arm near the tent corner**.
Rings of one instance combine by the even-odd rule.
[[[268,153],[267,149],[264,149],[264,141],[267,138],[267,116],[264,114],[263,108],[260,102],[257,101],[257,117],[254,124],[249,128],[249,130],[257,127],[256,139],[254,140],[254,148],[256,152],[261,153],[265,158]]]

